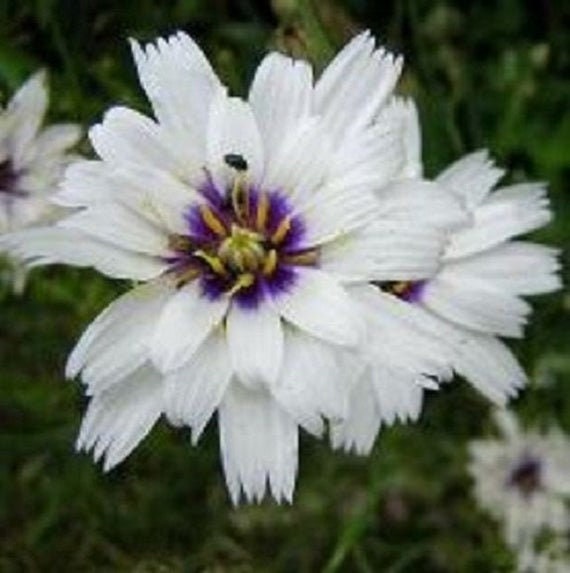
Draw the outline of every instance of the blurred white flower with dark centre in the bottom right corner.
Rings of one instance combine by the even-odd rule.
[[[469,471],[477,501],[503,523],[521,571],[556,571],[561,561],[537,548],[537,541],[539,535],[551,533],[551,545],[559,554],[567,547],[570,440],[558,429],[523,431],[504,410],[495,412],[495,422],[500,438],[470,444]]]

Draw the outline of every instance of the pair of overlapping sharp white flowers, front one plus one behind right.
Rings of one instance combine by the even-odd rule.
[[[400,57],[363,33],[314,78],[271,53],[241,99],[183,33],[132,50],[154,117],[110,109],[70,214],[1,241],[137,283],[69,358],[79,449],[110,469],[162,416],[195,443],[215,414],[233,501],[290,501],[300,428],[367,453],[456,373],[497,404],[525,384],[498,337],[559,286],[555,250],[512,240],[548,222],[544,185],[494,190],[486,152],[425,179]]]

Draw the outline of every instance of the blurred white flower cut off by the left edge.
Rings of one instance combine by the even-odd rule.
[[[49,202],[63,169],[73,159],[68,150],[81,136],[74,124],[41,127],[48,104],[44,72],[34,74],[0,111],[0,235],[54,218]],[[21,291],[25,269],[11,261],[10,279]]]

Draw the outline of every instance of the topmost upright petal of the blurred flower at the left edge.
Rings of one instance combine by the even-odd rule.
[[[17,168],[24,167],[27,152],[40,129],[47,104],[46,74],[40,71],[20,87],[4,112],[7,144]]]

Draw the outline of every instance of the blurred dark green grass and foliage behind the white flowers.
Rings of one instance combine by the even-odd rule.
[[[406,57],[429,174],[488,147],[509,180],[549,181],[570,238],[570,4],[564,0],[3,0],[4,101],[50,70],[50,119],[147,110],[126,39],[182,29],[238,94],[268,48],[322,67],[371,28]],[[84,151],[89,153],[88,146]],[[529,269],[529,272],[532,272]],[[82,328],[126,285],[63,268],[35,271],[24,299],[0,292],[0,571],[507,572],[513,557],[475,505],[465,443],[491,431],[465,383],[427,400],[420,423],[385,429],[368,459],[303,437],[295,503],[232,508],[215,424],[198,448],[160,425],[104,475],[73,452],[84,400],[63,380]],[[570,431],[570,297],[542,297],[516,351],[532,385],[515,407]]]

